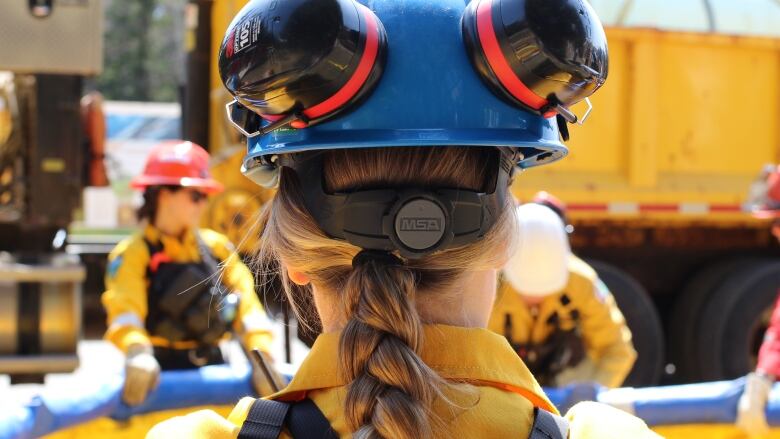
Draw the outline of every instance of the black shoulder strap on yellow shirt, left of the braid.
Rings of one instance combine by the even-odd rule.
[[[238,439],[276,439],[284,427],[294,439],[338,439],[330,422],[310,399],[284,403],[256,399],[249,408]]]

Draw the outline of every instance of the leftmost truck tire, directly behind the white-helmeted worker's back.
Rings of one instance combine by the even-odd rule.
[[[658,384],[664,367],[664,332],[658,311],[645,288],[623,270],[600,261],[588,261],[615,296],[631,330],[637,359],[624,386]]]

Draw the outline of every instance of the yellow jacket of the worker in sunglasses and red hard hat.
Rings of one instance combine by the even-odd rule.
[[[242,343],[248,349],[268,352],[273,336],[270,322],[255,293],[252,273],[241,262],[227,238],[208,229],[199,230],[204,244],[214,257],[222,261],[222,281],[228,288],[240,295],[234,328],[242,336]],[[164,339],[149,337],[144,329],[147,316],[147,267],[150,255],[144,238],[152,244],[162,244],[165,253],[173,262],[187,263],[201,260],[195,234],[188,232],[182,240],[162,235],[156,228],[146,226],[119,244],[108,256],[106,291],[103,306],[108,314],[108,330],[105,338],[122,351],[134,343],[169,346]],[[186,343],[186,342],[185,342]],[[187,348],[187,346],[172,346]]]

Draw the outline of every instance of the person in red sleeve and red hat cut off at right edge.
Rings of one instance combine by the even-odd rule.
[[[753,216],[772,220],[772,235],[780,242],[780,166],[766,167],[751,187],[749,203]],[[749,436],[769,432],[766,403],[780,377],[780,296],[778,296],[764,341],[758,351],[756,370],[745,378],[745,390],[737,405],[737,426]]]

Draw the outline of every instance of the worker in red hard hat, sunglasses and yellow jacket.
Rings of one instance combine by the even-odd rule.
[[[110,253],[102,296],[105,338],[126,354],[122,397],[130,405],[146,399],[160,370],[223,363],[219,342],[231,332],[270,361],[270,321],[252,273],[227,238],[198,228],[208,196],[222,190],[208,166],[200,146],[165,142],[131,183],[143,190],[143,230]],[[259,369],[253,384],[272,393]]]

